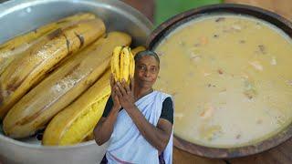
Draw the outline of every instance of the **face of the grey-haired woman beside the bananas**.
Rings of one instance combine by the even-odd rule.
[[[142,56],[135,64],[135,84],[139,87],[151,88],[159,73],[159,64],[155,57]]]

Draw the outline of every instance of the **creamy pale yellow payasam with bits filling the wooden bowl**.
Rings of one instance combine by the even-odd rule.
[[[174,133],[214,148],[270,138],[292,121],[292,41],[246,15],[204,15],[172,30],[156,89],[175,102]]]

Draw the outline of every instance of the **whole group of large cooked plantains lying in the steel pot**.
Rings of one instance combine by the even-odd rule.
[[[128,34],[106,34],[99,17],[84,13],[0,45],[5,135],[27,138],[45,128],[43,145],[72,145],[92,137],[110,97],[112,51],[130,43]]]

